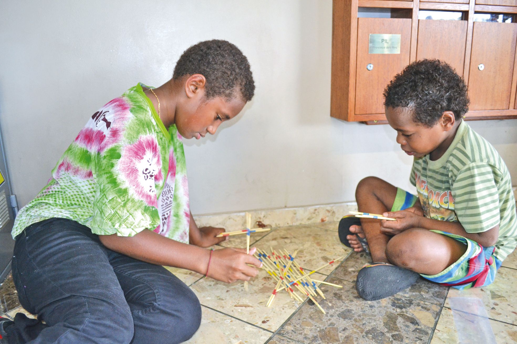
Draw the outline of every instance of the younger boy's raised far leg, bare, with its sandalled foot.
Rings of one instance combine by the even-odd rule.
[[[377,177],[366,177],[362,179],[356,188],[356,201],[359,211],[383,214],[391,210],[397,187]],[[352,228],[354,227],[354,228]],[[389,263],[386,256],[386,246],[391,239],[390,236],[381,233],[381,221],[374,219],[361,219],[361,226],[351,226],[351,232],[360,235],[360,231],[366,235],[372,261],[375,263]],[[354,250],[361,247],[357,238],[349,240]],[[359,250],[362,251],[362,250]]]

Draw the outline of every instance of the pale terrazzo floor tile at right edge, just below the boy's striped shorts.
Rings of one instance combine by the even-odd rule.
[[[494,283],[489,286],[465,290],[450,288],[444,306],[450,308],[449,300],[454,297],[482,299],[489,318],[517,325],[515,284],[517,270],[501,267]]]

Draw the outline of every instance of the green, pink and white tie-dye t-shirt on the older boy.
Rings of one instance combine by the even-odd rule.
[[[95,112],[23,207],[12,237],[58,217],[100,235],[133,236],[148,228],[189,241],[189,194],[182,138],[161,122],[138,84]]]

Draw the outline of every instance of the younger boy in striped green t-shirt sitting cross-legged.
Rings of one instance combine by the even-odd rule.
[[[417,195],[376,177],[359,182],[359,211],[396,219],[340,223],[341,241],[369,248],[372,257],[357,275],[359,296],[382,299],[419,276],[458,289],[491,284],[515,249],[515,199],[503,159],[462,119],[469,104],[463,79],[447,63],[417,61],[384,96],[397,143],[414,157]]]

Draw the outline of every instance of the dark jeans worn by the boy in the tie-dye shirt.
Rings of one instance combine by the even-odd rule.
[[[16,238],[12,277],[39,320],[18,314],[7,327],[10,344],[171,344],[201,323],[197,297],[176,276],[105,248],[67,219],[35,223]]]

